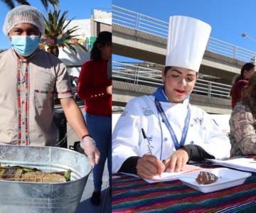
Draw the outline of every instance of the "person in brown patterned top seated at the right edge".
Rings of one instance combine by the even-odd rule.
[[[231,156],[256,154],[256,73],[230,116]]]

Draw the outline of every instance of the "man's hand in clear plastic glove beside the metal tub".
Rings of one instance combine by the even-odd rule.
[[[92,167],[94,167],[100,160],[100,152],[97,150],[95,140],[90,136],[82,138],[80,146],[85,150],[85,154],[90,161]]]

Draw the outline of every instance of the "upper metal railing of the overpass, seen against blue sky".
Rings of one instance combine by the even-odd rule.
[[[168,22],[115,5],[112,5],[112,23],[133,28],[138,31],[151,33],[162,38],[168,37]],[[244,62],[255,62],[256,58],[255,52],[246,50],[245,48],[240,48],[236,45],[213,37],[209,38],[206,50]]]

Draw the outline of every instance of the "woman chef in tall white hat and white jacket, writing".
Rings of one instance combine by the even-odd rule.
[[[152,179],[179,172],[188,160],[230,156],[230,141],[210,116],[189,104],[210,26],[171,16],[164,86],[130,100],[112,134],[112,173]]]

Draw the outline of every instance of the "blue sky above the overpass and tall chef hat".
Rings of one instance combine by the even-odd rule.
[[[241,36],[247,33],[256,39],[255,0],[113,0],[112,4],[162,21],[174,15],[198,18],[212,26],[211,37],[256,52],[256,42]]]

